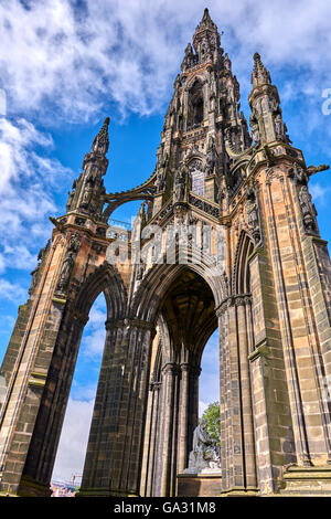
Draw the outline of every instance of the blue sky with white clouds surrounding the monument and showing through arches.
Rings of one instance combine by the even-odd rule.
[[[172,85],[205,7],[223,32],[246,118],[258,52],[307,166],[331,162],[329,0],[0,0],[0,360],[18,306],[28,298],[38,252],[51,236],[49,216],[64,213],[67,192],[106,116],[107,191],[135,187],[151,174]],[[330,179],[324,171],[310,181],[325,240],[331,236]],[[130,221],[136,211],[137,204],[128,204],[114,218]],[[84,332],[71,392],[72,419],[58,465],[64,475],[79,470],[74,460],[65,467],[65,448],[70,453],[75,438],[78,453],[87,437],[103,345],[102,297]],[[203,373],[212,373],[216,342],[213,337],[204,353]],[[94,370],[87,378],[89,363]],[[201,409],[210,401],[210,380],[201,383]]]

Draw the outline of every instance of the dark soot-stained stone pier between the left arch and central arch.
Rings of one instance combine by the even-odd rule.
[[[108,320],[82,480],[82,496],[138,496],[153,325]]]

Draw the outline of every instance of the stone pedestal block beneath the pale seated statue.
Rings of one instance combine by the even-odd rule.
[[[218,497],[221,489],[221,473],[201,472],[177,476],[178,497]]]

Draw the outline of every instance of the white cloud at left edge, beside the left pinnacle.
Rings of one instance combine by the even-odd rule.
[[[0,272],[34,268],[35,247],[51,235],[47,216],[57,211],[54,192],[73,174],[42,155],[52,147],[52,137],[25,119],[0,118]]]

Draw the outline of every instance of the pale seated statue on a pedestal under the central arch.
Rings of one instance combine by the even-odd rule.
[[[189,467],[184,469],[184,474],[197,474],[200,472],[220,472],[221,469],[221,452],[216,445],[216,441],[211,438],[206,421],[195,427],[193,433],[193,449],[189,457]]]

